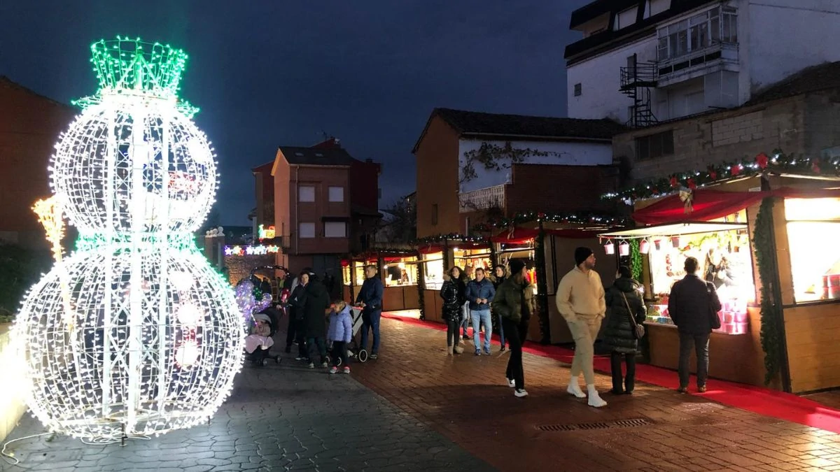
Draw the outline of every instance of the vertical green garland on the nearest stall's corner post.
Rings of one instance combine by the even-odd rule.
[[[780,323],[782,313],[774,301],[775,274],[778,273],[773,251],[773,206],[772,197],[764,198],[755,218],[753,248],[755,262],[759,266],[761,280],[761,349],[764,350],[764,385],[779,374],[782,359]]]

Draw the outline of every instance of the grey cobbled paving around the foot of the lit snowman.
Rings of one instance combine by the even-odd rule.
[[[43,432],[27,415],[8,439]],[[125,447],[45,436],[9,449],[21,461],[0,461],[9,472],[493,470],[352,375],[305,369],[293,359],[246,366],[234,395],[207,426],[132,439]]]

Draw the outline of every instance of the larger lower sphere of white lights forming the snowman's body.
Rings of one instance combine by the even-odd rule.
[[[129,436],[164,433],[206,422],[228,396],[244,349],[233,292],[197,251],[146,255],[136,290],[129,251],[93,249],[73,254],[24,298],[15,334],[26,397],[51,430],[80,438],[120,438],[123,425]],[[162,280],[164,266],[195,283],[180,290]]]

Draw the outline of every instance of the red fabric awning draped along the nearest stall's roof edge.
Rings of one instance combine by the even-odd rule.
[[[697,189],[691,198],[690,212],[679,195],[665,197],[649,207],[633,212],[633,220],[640,224],[665,224],[680,221],[710,221],[761,202],[765,197],[823,198],[840,197],[840,190],[797,190],[780,188],[774,191],[719,191]]]

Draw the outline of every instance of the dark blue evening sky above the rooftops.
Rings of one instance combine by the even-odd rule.
[[[3,0],[0,75],[62,102],[97,83],[117,34],[190,55],[181,97],[218,153],[225,224],[247,224],[250,168],[323,133],[383,163],[381,206],[414,189],[434,107],[564,116],[564,45],[588,0]],[[142,5],[142,7],[141,7]]]

